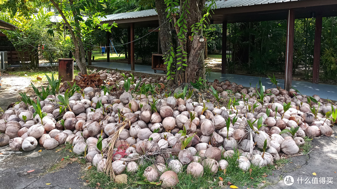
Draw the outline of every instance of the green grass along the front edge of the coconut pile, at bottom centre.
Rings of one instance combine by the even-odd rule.
[[[228,159],[229,167],[224,173],[223,170],[219,170],[216,174],[210,173],[208,170],[204,171],[204,175],[200,178],[193,178],[192,175],[186,174],[187,165],[183,167],[183,172],[178,174],[179,183],[174,188],[184,188],[184,189],[200,189],[200,188],[218,188],[218,182],[221,177],[223,179],[223,185],[227,182],[240,187],[256,187],[262,181],[266,181],[266,175],[271,174],[272,170],[275,169],[274,166],[267,166],[263,168],[258,168],[251,166],[251,173],[249,171],[244,172],[238,167],[237,161],[238,154],[235,154],[233,158]],[[140,185],[137,184],[138,181],[144,181],[143,177],[144,170],[151,166],[150,163],[141,166],[135,174],[124,172],[128,175],[127,184],[116,184],[110,180],[110,176],[106,176],[104,173],[99,173],[96,168],[92,168],[84,172],[84,179],[89,180],[90,187],[96,187],[97,183],[100,184],[101,188],[113,189],[113,188],[137,188]],[[159,180],[157,181],[159,182]],[[160,186],[146,185],[141,186],[141,188],[159,189]]]

